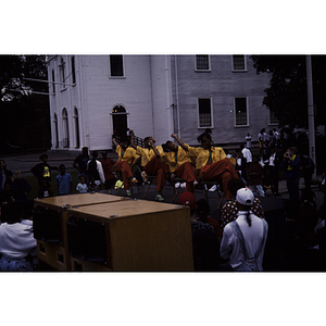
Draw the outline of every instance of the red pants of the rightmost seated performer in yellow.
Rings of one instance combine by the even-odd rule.
[[[227,189],[227,183],[233,178],[239,178],[238,174],[228,159],[221,160],[202,167],[200,172],[201,179],[209,181],[213,178],[222,181],[223,191],[226,200],[231,200],[233,195]]]

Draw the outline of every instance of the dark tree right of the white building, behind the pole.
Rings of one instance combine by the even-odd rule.
[[[308,127],[305,55],[251,55],[256,73],[269,72],[263,104],[285,125]],[[312,55],[316,126],[325,124],[326,55]]]

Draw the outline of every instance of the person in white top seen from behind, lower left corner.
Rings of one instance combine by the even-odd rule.
[[[22,206],[15,201],[4,209],[7,223],[0,225],[0,271],[30,272],[37,256],[33,227],[22,224]]]

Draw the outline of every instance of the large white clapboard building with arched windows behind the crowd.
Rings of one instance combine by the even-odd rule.
[[[262,105],[269,75],[248,55],[49,55],[52,150],[112,148],[134,129],[160,145],[189,145],[208,127],[215,143],[256,140],[277,123]]]

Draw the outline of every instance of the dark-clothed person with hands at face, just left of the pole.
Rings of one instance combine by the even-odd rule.
[[[284,177],[287,180],[287,188],[290,199],[299,199],[300,159],[297,156],[297,148],[290,147],[284,154],[280,167],[284,168]]]

